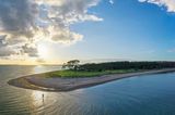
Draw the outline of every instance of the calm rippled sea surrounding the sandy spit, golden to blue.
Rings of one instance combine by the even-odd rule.
[[[0,115],[175,115],[175,73],[126,78],[71,92],[7,85],[19,76],[59,68],[0,66]]]

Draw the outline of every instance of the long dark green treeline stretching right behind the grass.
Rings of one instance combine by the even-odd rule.
[[[173,68],[175,62],[108,62],[108,63],[90,63],[79,65],[79,71],[113,71],[113,69],[160,69]]]

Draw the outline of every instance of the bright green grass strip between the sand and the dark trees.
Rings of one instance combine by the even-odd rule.
[[[84,72],[84,71],[57,71],[47,73],[47,77],[62,77],[62,78],[70,78],[70,77],[95,77],[102,75],[109,75],[109,74],[125,74],[125,73],[135,73],[140,72],[136,69],[115,69],[115,71],[102,71],[102,72]]]

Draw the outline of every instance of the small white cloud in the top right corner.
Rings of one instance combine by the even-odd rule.
[[[139,0],[140,2],[153,3],[159,7],[165,7],[167,12],[175,12],[175,0]]]

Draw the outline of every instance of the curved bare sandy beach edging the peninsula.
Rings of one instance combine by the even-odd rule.
[[[175,72],[175,68],[153,69],[147,72],[128,73],[128,74],[113,74],[103,75],[100,77],[85,77],[85,78],[46,78],[44,74],[28,75],[8,81],[9,85],[19,88],[43,90],[43,91],[71,91],[75,89],[92,87],[108,81],[128,78],[133,76],[161,74]]]

